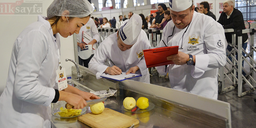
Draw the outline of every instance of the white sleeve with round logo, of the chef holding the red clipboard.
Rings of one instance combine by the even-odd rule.
[[[226,64],[225,34],[223,27],[219,23],[210,22],[206,25],[203,41],[206,45],[207,53],[195,55],[196,63],[191,70],[191,75],[194,78],[199,78],[207,70],[219,68]]]

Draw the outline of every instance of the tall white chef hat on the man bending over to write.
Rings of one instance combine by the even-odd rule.
[[[142,19],[138,14],[133,14],[129,21],[120,27],[118,34],[126,45],[133,45],[139,36],[142,28]]]

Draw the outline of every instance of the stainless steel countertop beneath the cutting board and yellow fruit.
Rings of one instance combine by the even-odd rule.
[[[73,79],[73,78],[72,78]],[[93,85],[90,85],[93,86]],[[98,90],[95,90],[98,91]],[[132,96],[135,99],[144,96],[154,103],[155,107],[145,113],[131,113],[121,109],[123,99]],[[105,107],[123,113],[139,120],[135,128],[226,128],[227,119],[218,117],[212,113],[205,113],[170,101],[162,100],[136,91],[120,89],[120,95],[109,97],[105,101]],[[86,113],[91,112],[87,107]],[[52,116],[52,128],[90,128],[75,118],[57,118]]]

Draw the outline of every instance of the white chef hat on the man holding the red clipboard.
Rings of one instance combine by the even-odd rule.
[[[192,5],[192,0],[169,0],[170,10],[184,11]]]

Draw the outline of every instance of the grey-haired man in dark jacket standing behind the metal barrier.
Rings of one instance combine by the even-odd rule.
[[[220,18],[217,22],[223,25],[224,29],[233,28],[237,30],[245,29],[245,23],[243,21],[243,15],[241,11],[234,8],[235,4],[232,0],[226,0],[223,3],[223,12],[220,15]],[[225,33],[227,42],[229,44],[232,44],[232,33]],[[243,49],[246,49],[247,42],[248,42],[248,35],[245,33],[242,35],[242,47]],[[236,44],[237,44],[237,38],[236,38]],[[227,45],[228,51],[232,50],[232,47],[230,45]],[[245,53],[242,53],[243,56],[245,56]],[[237,56],[237,55],[236,55]],[[231,60],[231,57],[228,57]],[[243,66],[243,62],[242,62]],[[243,75],[246,75],[243,71]]]

